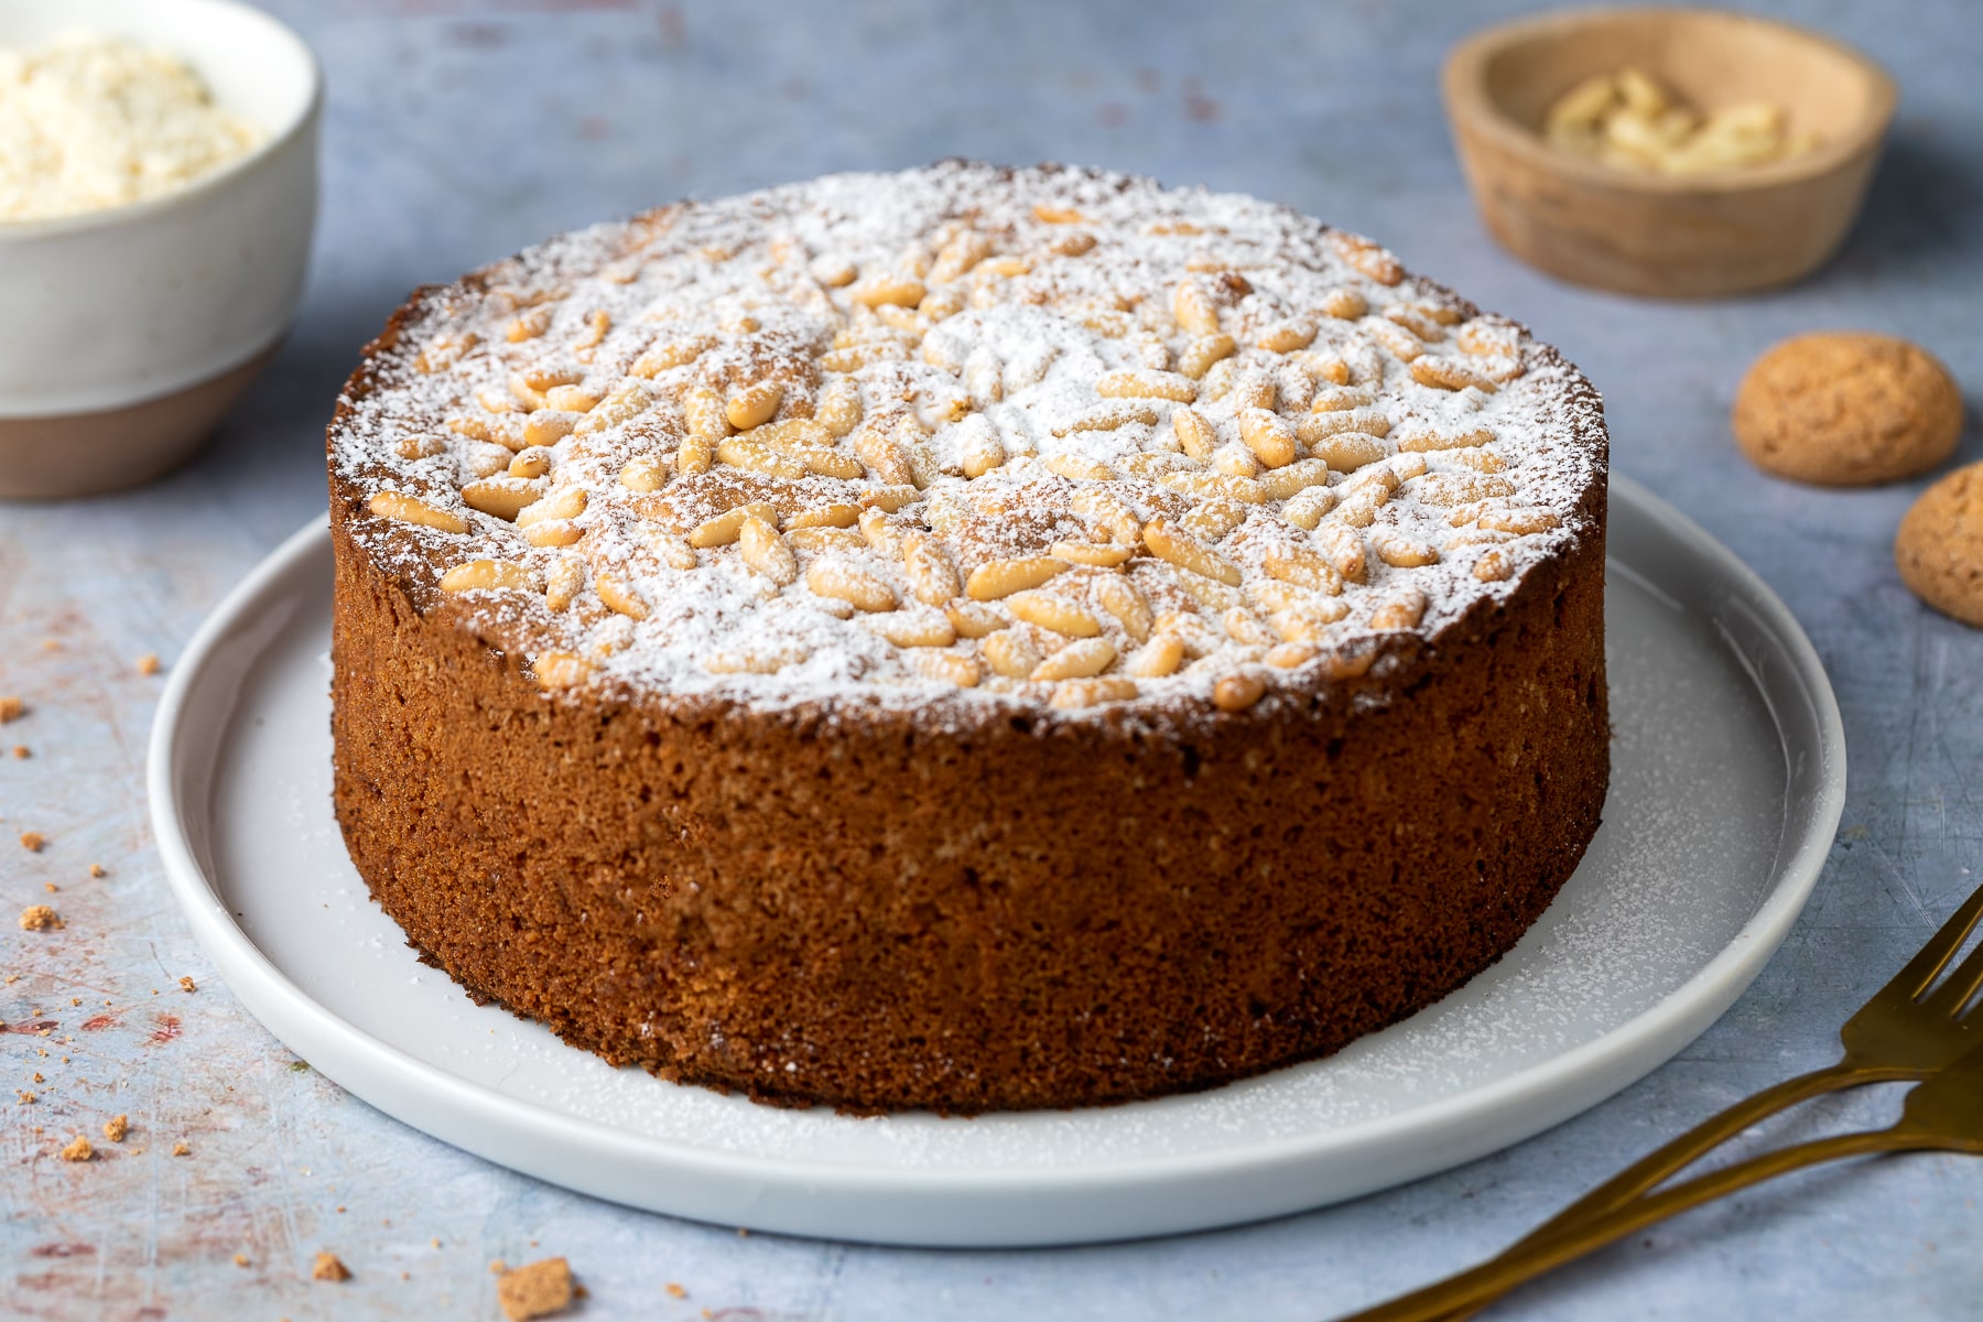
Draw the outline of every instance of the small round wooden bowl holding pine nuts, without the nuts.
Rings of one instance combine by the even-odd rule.
[[[1771,101],[1820,145],[1713,174],[1616,168],[1551,147],[1565,91],[1620,65],[1693,107]],[[1523,262],[1598,289],[1713,297],[1791,283],[1844,240],[1894,117],[1894,81],[1803,28],[1721,10],[1588,10],[1489,28],[1446,59],[1473,200]]]

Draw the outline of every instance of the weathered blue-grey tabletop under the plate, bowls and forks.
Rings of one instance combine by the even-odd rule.
[[[301,325],[194,468],[125,497],[0,507],[0,692],[34,704],[0,733],[34,751],[0,761],[0,828],[50,836],[40,854],[0,846],[0,900],[52,900],[67,920],[59,934],[8,924],[0,955],[18,975],[0,987],[16,1029],[0,1039],[6,1086],[40,1094],[0,1128],[14,1276],[0,1312],[496,1316],[490,1259],[563,1253],[593,1290],[585,1316],[1321,1318],[1491,1253],[1658,1138],[1826,1060],[1838,1021],[1977,884],[1983,634],[1918,606],[1888,555],[1922,484],[1793,488],[1735,458],[1725,428],[1741,367],[1812,327],[1904,333],[1971,396],[1983,381],[1983,40],[1961,0],[1900,16],[1777,6],[1894,69],[1900,123],[1838,262],[1785,293],[1703,305],[1551,283],[1477,228],[1434,77],[1452,40],[1521,6],[272,8],[331,79]],[[204,977],[143,823],[157,680],[131,662],[157,650],[171,664],[218,595],[321,509],[319,428],[387,311],[416,281],[658,200],[942,155],[1202,180],[1380,236],[1563,345],[1606,394],[1616,466],[1783,595],[1844,708],[1844,828],[1789,943],[1678,1060],[1521,1148],[1344,1207],[1144,1245],[906,1253],[742,1239],[510,1175],[293,1066]],[[1963,454],[1979,458],[1975,422]],[[109,876],[91,880],[89,862]],[[200,989],[178,991],[180,973]],[[1775,1132],[1894,1108],[1894,1094],[1840,1100]],[[89,1165],[54,1159],[115,1112],[131,1114],[127,1144]],[[176,1140],[192,1156],[171,1157]],[[1979,1197],[1973,1159],[1805,1175],[1610,1251],[1505,1314],[1983,1316]],[[355,1278],[311,1284],[319,1247]]]

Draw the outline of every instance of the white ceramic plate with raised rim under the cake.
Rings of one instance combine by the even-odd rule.
[[[200,628],[151,743],[173,890],[228,985],[373,1106],[635,1207],[904,1245],[1053,1245],[1271,1217],[1545,1130],[1749,985],[1844,803],[1824,670],[1769,589],[1614,480],[1604,826],[1523,941],[1348,1050],[1194,1096],[855,1120],[615,1070],[476,1007],[367,896],[331,817],[331,549],[284,543]]]

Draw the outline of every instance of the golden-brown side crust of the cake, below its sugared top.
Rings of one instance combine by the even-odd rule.
[[[426,557],[369,551],[375,486],[333,462],[353,862],[474,995],[761,1100],[1079,1106],[1333,1052],[1505,953],[1596,830],[1602,414],[1541,357],[1594,456],[1569,535],[1239,712],[545,694]]]

